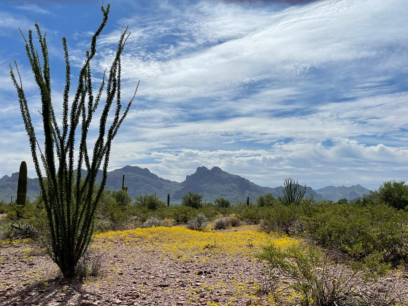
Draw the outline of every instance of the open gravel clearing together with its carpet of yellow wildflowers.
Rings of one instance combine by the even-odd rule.
[[[64,283],[47,255],[25,241],[1,249],[0,304],[273,305],[271,295],[258,293],[266,265],[254,258],[271,242],[298,243],[256,226],[222,232],[184,226],[110,231],[96,234],[90,248],[89,258],[101,264],[102,273]]]

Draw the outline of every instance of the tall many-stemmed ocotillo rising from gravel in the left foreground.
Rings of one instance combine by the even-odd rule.
[[[36,23],[35,29],[40,43],[40,51],[37,51],[33,44],[32,31],[29,30],[28,39],[22,34],[26,42],[25,49],[33,77],[41,97],[42,128],[40,131],[44,133],[41,137],[37,137],[35,133],[36,122],[31,120],[18,65],[15,62],[16,74],[10,65],[11,78],[17,89],[20,110],[29,137],[31,155],[50,226],[51,245],[48,245],[47,249],[64,277],[70,278],[75,276],[75,267],[91,241],[95,213],[106,184],[111,144],[134,99],[133,95],[122,110],[120,56],[129,37],[127,28],[122,31],[107,77],[104,73],[97,93],[93,92],[92,81],[94,79],[91,75],[91,61],[96,54],[97,38],[108,20],[109,7],[109,4],[106,9],[101,7],[102,22],[92,36],[90,51],[86,51],[86,58],[80,69],[78,87],[73,99],[69,99],[71,65],[67,40],[62,38],[66,71],[61,105],[62,122],[58,122],[59,115],[55,113],[51,102],[51,75],[46,35],[42,35]],[[105,87],[106,93],[103,94]],[[92,148],[87,135],[93,115],[100,102],[102,103],[102,96],[106,101],[102,106],[101,117],[97,119],[99,132],[95,136],[96,141]],[[112,116],[108,120],[109,113]],[[41,140],[44,140],[43,145],[40,145]],[[75,140],[79,141],[75,143]],[[85,177],[81,175],[82,168],[86,169]],[[103,173],[102,182],[98,186],[96,195],[93,195],[96,176],[100,168]],[[45,169],[45,175],[42,169]],[[45,188],[44,176],[48,179],[48,188]]]

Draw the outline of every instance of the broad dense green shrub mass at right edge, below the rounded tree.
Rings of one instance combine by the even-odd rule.
[[[408,214],[387,205],[303,207],[306,237],[354,259],[380,253],[386,262],[408,259]]]

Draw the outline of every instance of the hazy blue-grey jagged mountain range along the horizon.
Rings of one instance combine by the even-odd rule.
[[[83,170],[83,175],[86,172]],[[208,169],[205,166],[198,167],[195,173],[186,176],[183,182],[174,182],[158,177],[147,168],[137,166],[125,166],[107,173],[106,189],[119,190],[122,188],[122,175],[125,175],[125,185],[128,186],[129,195],[134,198],[145,193],[153,194],[161,200],[167,199],[170,193],[171,203],[180,203],[183,194],[192,191],[204,194],[206,202],[213,202],[217,197],[224,197],[235,202],[246,202],[249,195],[251,202],[259,195],[272,193],[274,197],[284,195],[282,186],[276,188],[262,187],[250,182],[244,177],[222,171],[219,167]],[[102,171],[98,174],[97,180],[102,180]],[[7,202],[17,193],[18,172],[11,177],[4,175],[0,178],[0,197]],[[370,193],[370,190],[361,185],[350,187],[327,186],[313,190],[306,187],[305,196],[313,195],[316,200],[332,200],[336,202],[341,198],[353,199]],[[27,195],[34,199],[40,194],[38,178],[28,179]]]

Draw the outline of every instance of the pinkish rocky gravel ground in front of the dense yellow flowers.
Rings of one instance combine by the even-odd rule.
[[[257,293],[266,264],[248,256],[208,252],[182,259],[144,244],[119,242],[93,248],[93,253],[100,254],[102,273],[69,281],[33,244],[3,245],[0,305],[273,305],[270,296]],[[376,286],[408,297],[404,275],[395,272]]]

